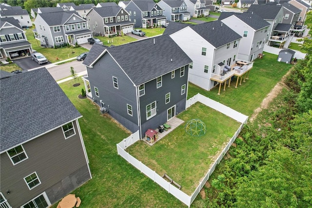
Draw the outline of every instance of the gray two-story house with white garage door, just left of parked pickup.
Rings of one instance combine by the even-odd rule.
[[[131,33],[134,24],[129,13],[120,6],[95,7],[86,15],[90,29],[106,37]]]

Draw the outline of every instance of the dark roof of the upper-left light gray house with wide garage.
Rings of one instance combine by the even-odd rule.
[[[79,19],[80,16],[76,11],[61,11],[61,12],[49,12],[49,13],[40,13],[38,14],[49,26],[52,25],[62,25],[64,24],[70,17],[75,15]],[[82,21],[82,19],[81,19]],[[78,21],[77,21],[78,22]]]

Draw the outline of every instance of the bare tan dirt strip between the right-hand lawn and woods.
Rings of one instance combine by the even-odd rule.
[[[273,87],[271,92],[264,98],[260,104],[260,107],[254,110],[253,115],[250,117],[249,121],[253,122],[257,115],[263,110],[269,107],[269,104],[272,100],[277,97],[277,95],[282,92],[283,88],[286,87],[284,81],[286,77],[290,74],[291,70],[289,70],[286,75],[282,77],[282,79]]]

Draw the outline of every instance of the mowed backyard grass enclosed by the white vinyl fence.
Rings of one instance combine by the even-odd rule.
[[[185,122],[153,146],[139,141],[126,151],[158,175],[169,175],[183,192],[191,195],[240,123],[199,102],[177,117]],[[186,123],[193,118],[206,124],[205,135],[191,136],[185,132]]]

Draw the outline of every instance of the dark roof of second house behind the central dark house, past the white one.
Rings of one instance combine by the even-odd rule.
[[[269,22],[267,22],[266,20],[262,19],[261,17],[252,12],[244,12],[244,13],[222,12],[219,17],[219,20],[228,18],[232,15],[248,24],[254,30],[259,30],[261,28],[270,26]]]

